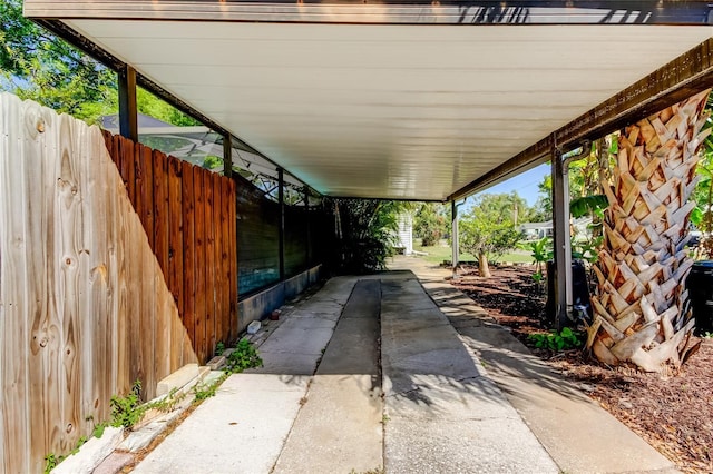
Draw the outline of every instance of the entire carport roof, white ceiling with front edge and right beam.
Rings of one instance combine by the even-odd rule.
[[[685,92],[693,79],[691,92],[709,86],[711,11],[682,1],[26,0],[29,17],[130,65],[320,192],[432,200],[575,146],[616,125],[627,101]]]

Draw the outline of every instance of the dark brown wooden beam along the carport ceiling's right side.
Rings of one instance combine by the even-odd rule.
[[[713,39],[599,103],[537,144],[510,158],[490,172],[448,197],[460,199],[535,167],[549,157],[553,147],[561,151],[577,148],[622,127],[713,87]]]

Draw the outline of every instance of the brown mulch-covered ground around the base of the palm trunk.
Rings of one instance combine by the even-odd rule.
[[[573,349],[538,349],[528,336],[546,333],[547,287],[533,279],[531,266],[491,268],[492,277],[468,270],[456,286],[487,309],[533,353],[566,377],[589,388],[589,396],[673,461],[686,473],[713,473],[713,339],[676,374],[667,376],[634,369],[606,368]]]

